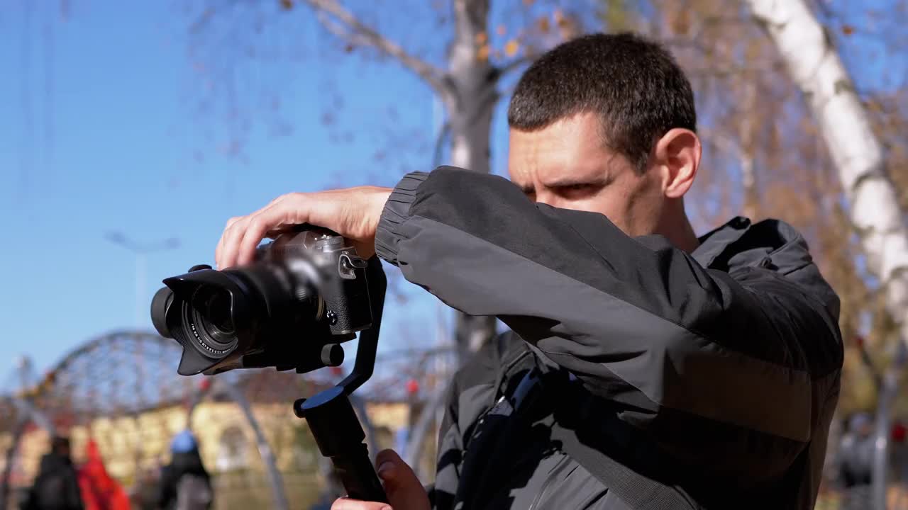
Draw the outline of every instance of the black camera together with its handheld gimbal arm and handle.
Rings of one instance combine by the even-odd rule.
[[[247,266],[193,266],[163,283],[152,299],[152,322],[183,346],[183,376],[337,367],[341,343],[360,332],[350,374],[294,401],[293,413],[306,420],[350,497],[387,502],[349,398],[375,368],[388,284],[378,257],[362,260],[349,240],[303,224],[260,246]]]

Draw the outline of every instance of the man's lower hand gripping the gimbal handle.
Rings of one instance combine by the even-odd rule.
[[[419,483],[419,478],[393,450],[382,450],[375,457],[379,477],[385,483],[388,503],[360,501],[341,497],[334,501],[331,510],[429,510],[429,495]]]

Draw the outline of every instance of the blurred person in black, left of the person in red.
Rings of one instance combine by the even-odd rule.
[[[23,510],[83,510],[79,482],[70,456],[67,437],[51,439],[51,451],[41,458],[35,484]]]

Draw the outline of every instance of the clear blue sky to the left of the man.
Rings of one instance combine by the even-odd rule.
[[[0,382],[20,355],[44,370],[88,338],[136,326],[135,257],[108,232],[180,241],[149,255],[144,309],[160,280],[212,261],[231,216],[288,191],[429,169],[429,90],[394,64],[338,51],[311,16],[293,14],[308,31],[303,54],[236,59],[231,102],[193,67],[191,15],[163,2],[68,4],[65,20],[57,3],[13,2],[0,15]],[[234,56],[209,55],[218,83]],[[274,92],[280,106],[260,107]],[[245,120],[242,153],[224,150]],[[433,338],[434,302],[407,293],[386,313],[383,348]],[[147,313],[138,326],[152,328]]]

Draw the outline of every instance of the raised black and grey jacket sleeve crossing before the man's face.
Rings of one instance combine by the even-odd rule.
[[[841,364],[836,319],[775,270],[706,269],[496,176],[409,174],[376,250],[449,306],[497,316],[666,444],[673,425],[706,420],[791,441],[794,461],[832,391],[816,381]]]

